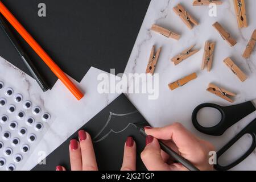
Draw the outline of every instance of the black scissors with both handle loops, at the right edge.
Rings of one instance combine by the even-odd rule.
[[[217,109],[221,113],[221,121],[213,127],[203,127],[199,124],[197,121],[197,113],[199,110],[210,107]],[[229,129],[232,125],[237,123],[238,121],[241,121],[242,118],[245,118],[247,115],[253,113],[256,110],[256,100],[248,101],[242,104],[233,105],[233,106],[219,106],[216,104],[210,104],[205,103],[201,104],[196,107],[196,109],[192,113],[192,122],[193,125],[196,127],[197,130],[199,130],[201,133],[213,135],[213,136],[220,136],[224,134],[224,132]],[[237,159],[235,162],[229,164],[228,166],[221,166],[218,164],[218,159],[224,152],[226,152],[230,147],[233,146],[234,143],[237,142],[243,135],[250,134],[253,138],[253,142],[251,143],[251,146],[245,154],[241,156],[241,158]],[[253,152],[256,148],[256,118],[254,121],[249,123],[240,133],[236,135],[232,140],[230,140],[224,147],[221,148],[220,151],[217,152],[217,164],[214,165],[214,168],[217,170],[228,170],[230,168],[233,168],[237,164],[241,163],[243,160],[247,158]]]

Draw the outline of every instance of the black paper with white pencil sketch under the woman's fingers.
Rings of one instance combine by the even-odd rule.
[[[86,123],[81,129],[84,129],[92,138],[94,138],[102,127],[105,125],[109,117],[109,112],[116,114],[124,114],[136,111],[137,109],[131,104],[124,94],[119,96],[110,105],[105,107],[100,113]],[[145,123],[145,126],[149,126],[143,116],[137,112],[135,114],[117,117],[113,116],[109,126],[106,127],[104,132],[99,136],[104,136],[110,129],[119,131],[124,129],[129,123]],[[46,165],[36,166],[33,170],[55,170],[56,166],[64,166],[66,169],[70,169],[69,163],[69,140],[78,139],[78,131],[73,134],[66,142],[61,144],[55,151],[53,151],[46,158]],[[133,137],[137,145],[137,170],[145,170],[144,164],[141,161],[141,152],[145,146],[145,138],[139,134],[139,131],[133,126],[129,126],[125,131],[119,134],[110,134],[109,137],[101,142],[94,143],[94,150],[96,152],[96,159],[98,168],[100,170],[119,170],[122,166],[123,159],[123,147],[127,137]]]

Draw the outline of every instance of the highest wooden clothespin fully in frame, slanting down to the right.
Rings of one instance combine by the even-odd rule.
[[[197,20],[193,18],[192,15],[189,14],[180,4],[174,7],[174,12],[180,16],[181,20],[183,20],[183,22],[189,29],[193,28],[193,24],[199,25]]]

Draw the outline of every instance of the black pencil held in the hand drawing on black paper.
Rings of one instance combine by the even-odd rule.
[[[145,130],[142,126],[136,125],[136,128],[139,130],[139,133],[142,134],[144,137],[147,137],[147,134],[145,133]],[[166,144],[164,144],[162,141],[159,140],[160,148],[166,152],[168,155],[170,155],[176,162],[181,163],[184,167],[189,169],[190,171],[199,171],[198,168],[196,168],[191,162],[189,162],[187,159],[183,158],[179,154],[177,154],[174,150],[172,150],[170,147],[168,147]]]

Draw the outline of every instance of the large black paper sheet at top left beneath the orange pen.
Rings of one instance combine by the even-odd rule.
[[[150,0],[3,0],[33,38],[64,72],[81,81],[90,67],[125,70]],[[38,4],[46,3],[46,17]],[[53,86],[57,78],[16,33],[22,47]],[[0,55],[27,68],[0,29]]]

